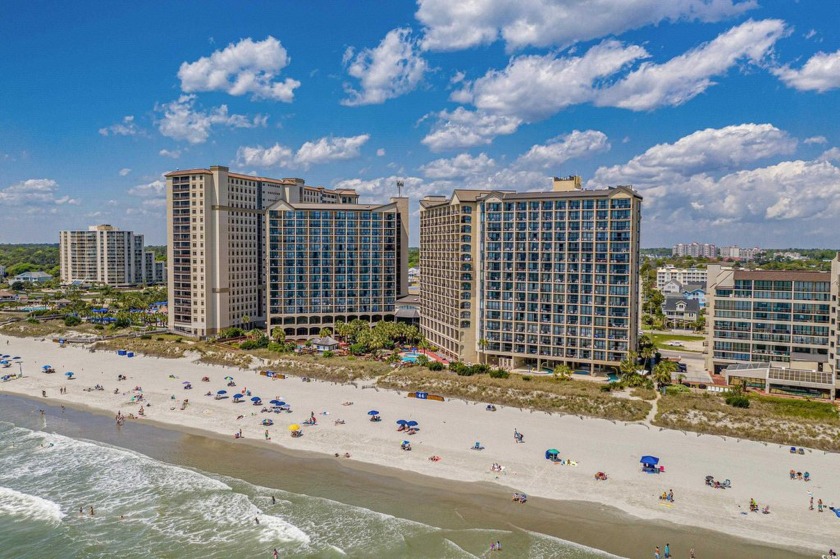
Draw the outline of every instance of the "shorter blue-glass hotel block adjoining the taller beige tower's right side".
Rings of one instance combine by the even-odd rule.
[[[269,332],[299,339],[337,321],[395,320],[408,294],[408,198],[281,200],[267,219]]]

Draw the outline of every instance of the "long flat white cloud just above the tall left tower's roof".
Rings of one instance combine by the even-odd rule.
[[[341,161],[359,157],[362,146],[370,139],[370,134],[349,137],[325,137],[312,142],[305,142],[297,152],[281,144],[269,148],[262,146],[240,147],[236,152],[240,165],[251,167],[302,167]]]

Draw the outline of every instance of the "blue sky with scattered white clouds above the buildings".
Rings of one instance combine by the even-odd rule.
[[[633,185],[643,246],[837,247],[840,2],[0,3],[0,243],[165,242],[162,174]]]

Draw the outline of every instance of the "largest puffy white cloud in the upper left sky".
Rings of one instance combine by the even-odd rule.
[[[264,41],[251,38],[229,44],[209,57],[184,62],[178,70],[181,90],[224,91],[230,95],[252,94],[254,99],[290,103],[300,82],[292,78],[275,81],[288,66],[289,56],[280,41],[269,36]]]

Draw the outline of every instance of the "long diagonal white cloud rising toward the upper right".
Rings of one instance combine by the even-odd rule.
[[[681,105],[714,85],[713,77],[739,61],[760,63],[786,32],[781,20],[747,21],[664,64],[642,63],[600,91],[595,104],[634,111]]]

